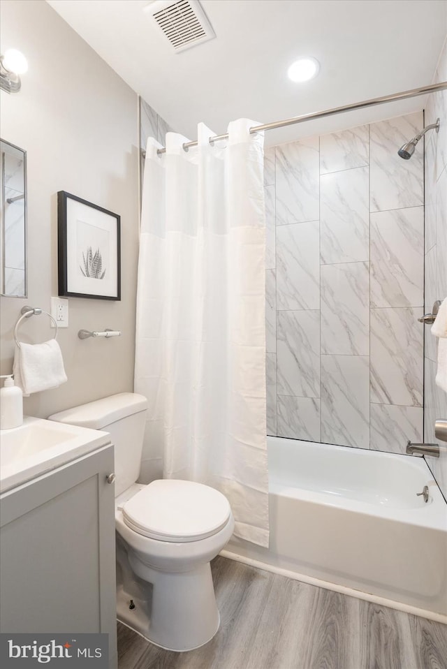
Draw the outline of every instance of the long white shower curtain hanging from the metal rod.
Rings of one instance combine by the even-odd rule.
[[[198,126],[198,147],[147,143],[135,392],[149,402],[144,482],[183,478],[230,501],[235,535],[268,546],[263,134]]]

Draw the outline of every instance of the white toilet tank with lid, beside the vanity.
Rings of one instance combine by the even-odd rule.
[[[147,399],[135,392],[120,392],[95,402],[53,413],[48,420],[101,429],[115,446],[115,496],[138,480],[145,432]]]

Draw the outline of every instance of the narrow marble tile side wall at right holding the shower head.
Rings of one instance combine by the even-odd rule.
[[[447,40],[435,73],[434,82],[447,81]],[[425,310],[434,300],[447,297],[447,91],[429,96],[425,125],[436,122],[439,133],[431,131],[425,142]],[[434,379],[437,372],[437,339],[425,327],[424,437],[439,443],[440,457],[427,457],[427,463],[447,499],[447,443],[434,438],[434,421],[447,418],[447,394]]]

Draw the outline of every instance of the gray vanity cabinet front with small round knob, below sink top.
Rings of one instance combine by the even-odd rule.
[[[117,666],[113,446],[0,498],[2,632],[109,634]]]

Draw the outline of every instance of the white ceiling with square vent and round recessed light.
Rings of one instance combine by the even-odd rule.
[[[202,0],[217,38],[175,53],[149,0],[47,0],[176,131],[216,133],[248,117],[268,123],[432,82],[447,0]],[[311,55],[318,77],[293,84]],[[423,109],[424,97],[266,133],[266,144]]]

